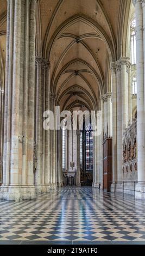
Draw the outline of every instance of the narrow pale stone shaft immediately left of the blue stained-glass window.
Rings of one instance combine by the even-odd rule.
[[[77,186],[81,186],[80,184],[80,130],[77,130],[76,134],[77,134]]]

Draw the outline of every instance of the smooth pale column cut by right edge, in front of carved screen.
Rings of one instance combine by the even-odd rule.
[[[144,99],[145,99],[145,75],[144,75],[144,60],[145,60],[145,6],[144,0],[136,0],[136,74],[137,74],[137,170],[138,181],[143,181],[145,184],[145,137],[144,137]],[[145,192],[145,185],[140,182],[136,186],[137,191]],[[136,192],[138,198],[144,198],[144,193]]]

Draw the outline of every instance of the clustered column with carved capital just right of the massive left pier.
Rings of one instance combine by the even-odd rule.
[[[35,86],[35,144],[36,144],[36,170],[35,170],[35,190],[37,193],[48,192],[50,187],[49,151],[51,143],[49,131],[43,129],[43,113],[50,109],[49,93],[49,68],[47,59],[36,56],[36,86]],[[50,150],[50,149],[49,149]]]

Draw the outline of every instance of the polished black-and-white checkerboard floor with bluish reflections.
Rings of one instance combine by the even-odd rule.
[[[92,187],[0,200],[0,241],[143,241],[145,201]]]

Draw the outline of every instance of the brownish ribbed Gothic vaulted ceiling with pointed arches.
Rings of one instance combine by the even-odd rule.
[[[36,55],[51,63],[51,90],[62,109],[98,109],[100,94],[111,90],[110,62],[121,57],[122,27],[129,17],[130,2],[37,1]],[[0,60],[4,66],[7,0],[0,0],[0,5]]]

